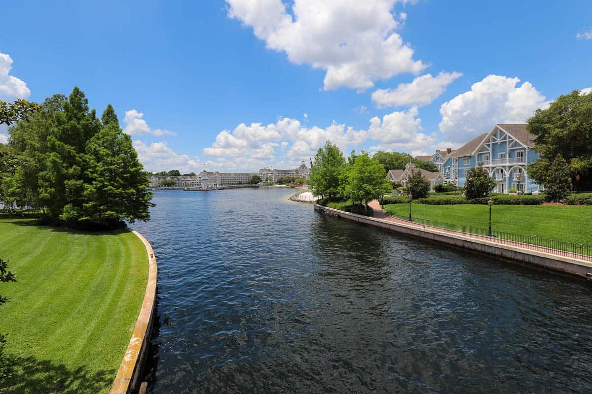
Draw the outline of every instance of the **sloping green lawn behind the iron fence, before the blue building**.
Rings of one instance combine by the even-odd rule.
[[[408,204],[385,205],[385,212],[408,216]],[[487,205],[412,204],[413,217],[487,229]],[[494,205],[495,230],[592,245],[592,206]]]

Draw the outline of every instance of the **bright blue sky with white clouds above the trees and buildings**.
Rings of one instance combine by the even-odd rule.
[[[592,86],[589,0],[50,3],[0,5],[0,100],[79,86],[148,170],[423,154]]]

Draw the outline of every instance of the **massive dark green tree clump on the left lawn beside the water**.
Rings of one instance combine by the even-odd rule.
[[[78,87],[46,99],[9,129],[9,146],[27,162],[3,182],[5,200],[38,207],[53,224],[88,229],[149,220],[148,180],[112,106],[101,117]]]

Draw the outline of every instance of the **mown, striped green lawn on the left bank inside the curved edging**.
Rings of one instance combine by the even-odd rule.
[[[148,258],[133,233],[88,233],[0,219],[0,332],[17,368],[1,393],[105,393],[146,291]]]

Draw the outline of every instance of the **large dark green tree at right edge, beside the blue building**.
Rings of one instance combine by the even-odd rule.
[[[571,183],[575,190],[592,190],[592,93],[583,95],[574,90],[559,96],[548,109],[538,109],[528,119],[527,129],[535,138],[535,149],[541,163],[551,164],[558,155],[568,164]],[[529,171],[539,184],[551,168],[544,170],[538,161]],[[577,179],[579,176],[579,180]]]

